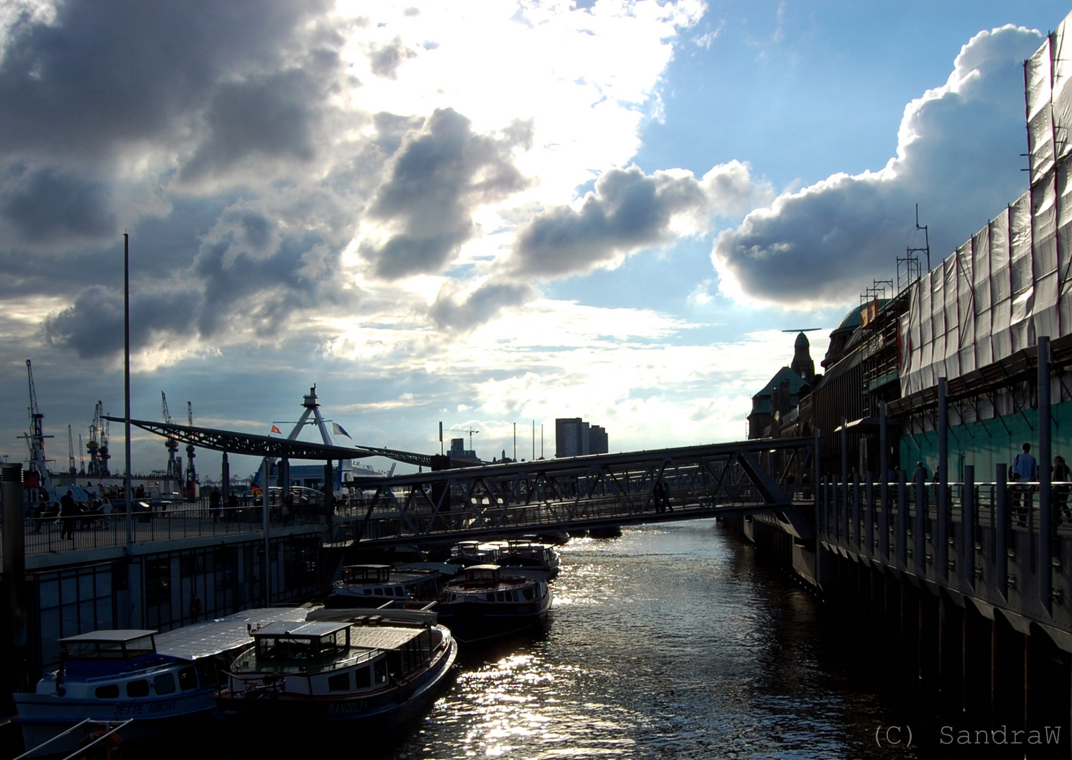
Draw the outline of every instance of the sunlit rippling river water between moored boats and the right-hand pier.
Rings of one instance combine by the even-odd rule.
[[[917,757],[823,653],[820,603],[714,520],[574,539],[562,556],[546,628],[463,651],[383,758]],[[902,744],[878,746],[880,727]]]

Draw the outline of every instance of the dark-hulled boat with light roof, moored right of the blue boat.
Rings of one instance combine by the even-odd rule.
[[[326,617],[339,610],[325,610]],[[217,694],[217,717],[242,729],[235,735],[279,735],[283,726],[332,729],[357,739],[418,715],[436,694],[458,654],[450,631],[427,610],[303,623],[273,623],[253,631],[254,644],[235,659]],[[274,740],[271,740],[274,741]]]

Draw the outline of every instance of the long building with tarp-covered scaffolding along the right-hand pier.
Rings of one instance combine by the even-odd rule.
[[[944,378],[949,475],[966,464],[993,475],[1039,441],[1038,345],[1048,338],[1054,453],[1072,452],[1072,62],[1063,44],[1055,32],[1025,63],[1029,190],[933,269],[928,244],[898,256],[896,281],[874,281],[831,333],[810,392],[758,434],[818,431],[820,472],[878,475],[885,402],[890,466],[921,461],[934,472]]]

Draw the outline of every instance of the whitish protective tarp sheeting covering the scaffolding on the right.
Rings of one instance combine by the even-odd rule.
[[[1039,336],[1072,332],[1070,19],[1025,66],[1031,190],[909,294],[900,319],[904,396],[1034,346]]]

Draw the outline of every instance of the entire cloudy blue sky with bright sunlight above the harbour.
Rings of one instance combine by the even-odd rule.
[[[0,456],[27,456],[27,359],[54,471],[98,400],[122,416],[124,232],[134,418],[163,391],[285,433],[315,385],[342,445],[744,438],[793,331],[821,371],[896,282],[917,205],[937,264],[1027,190],[1023,61],[1070,10],[10,0]]]

